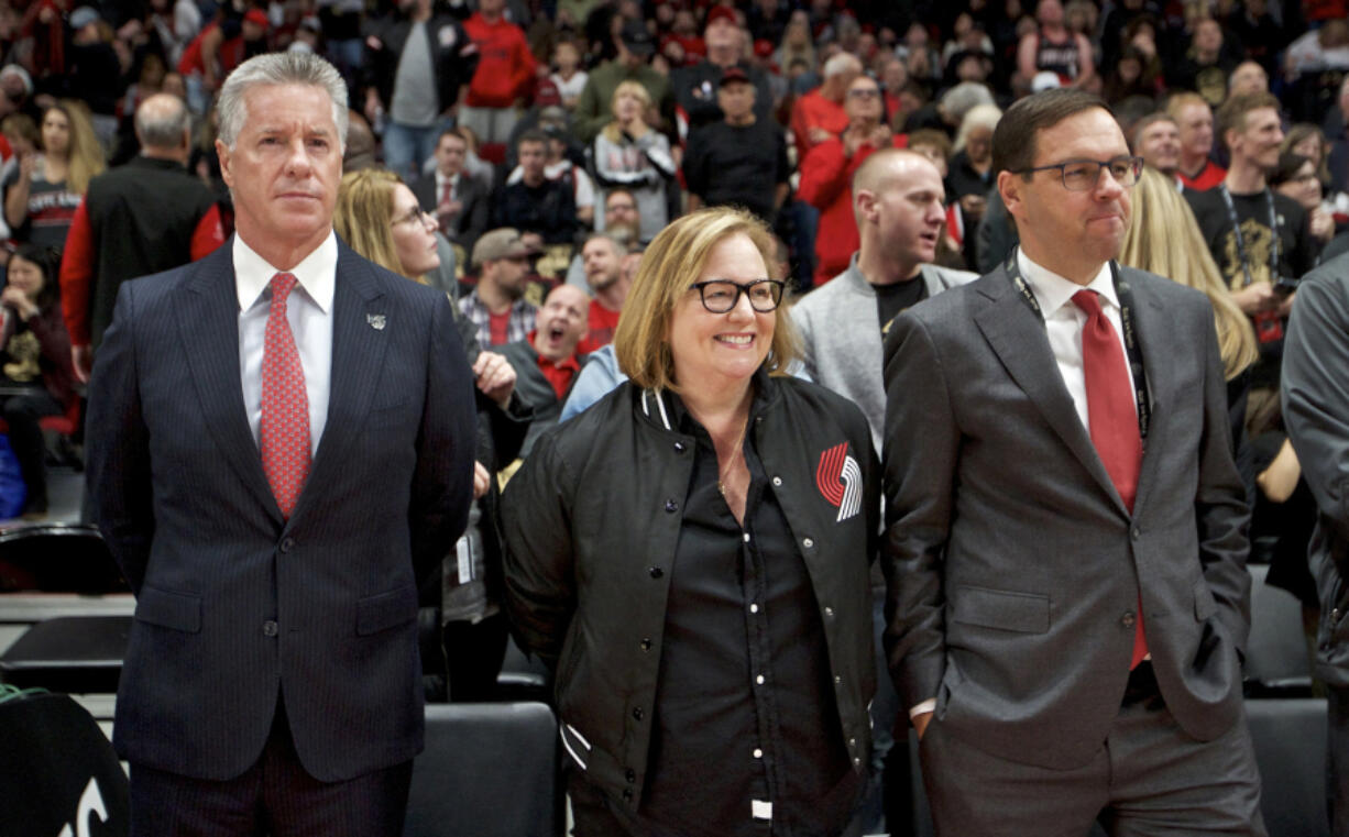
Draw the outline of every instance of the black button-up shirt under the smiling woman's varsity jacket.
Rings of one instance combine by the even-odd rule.
[[[641,832],[831,834],[859,790],[830,682],[819,604],[792,531],[754,453],[743,527],[718,491],[707,431],[697,439],[672,565]],[[660,824],[657,828],[654,824]]]

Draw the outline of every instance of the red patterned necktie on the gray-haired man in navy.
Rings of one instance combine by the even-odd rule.
[[[271,311],[262,349],[262,469],[281,514],[290,519],[309,476],[309,396],[295,338],[286,321],[290,274],[271,279]]]

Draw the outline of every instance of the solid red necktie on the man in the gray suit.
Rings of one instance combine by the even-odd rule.
[[[1072,303],[1087,315],[1082,328],[1082,372],[1087,388],[1087,423],[1091,443],[1120,492],[1125,508],[1133,511],[1139,491],[1139,469],[1143,462],[1143,438],[1139,435],[1139,412],[1133,403],[1135,390],[1124,363],[1124,349],[1114,326],[1101,311],[1095,291],[1078,291]],[[1143,602],[1133,631],[1135,669],[1148,654],[1143,635]]]

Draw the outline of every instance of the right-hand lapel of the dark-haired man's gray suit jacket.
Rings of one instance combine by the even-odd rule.
[[[1129,282],[1130,276],[1121,268],[1120,280]],[[1143,352],[1143,368],[1147,375],[1148,400],[1152,406],[1152,423],[1148,427],[1148,438],[1144,441],[1143,468],[1139,473],[1139,493],[1133,503],[1133,512],[1137,515],[1148,496],[1148,489],[1157,480],[1157,468],[1167,450],[1167,422],[1163,406],[1175,394],[1176,387],[1176,357],[1193,356],[1193,349],[1178,345],[1175,318],[1161,305],[1155,294],[1151,294],[1141,282],[1132,282],[1135,322],[1139,329],[1139,348]],[[1202,353],[1201,353],[1202,354]]]

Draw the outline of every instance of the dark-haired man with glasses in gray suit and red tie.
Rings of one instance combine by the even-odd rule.
[[[1021,245],[886,340],[886,651],[942,834],[1264,834],[1246,508],[1213,309],[1114,263],[1105,102],[993,137]]]

